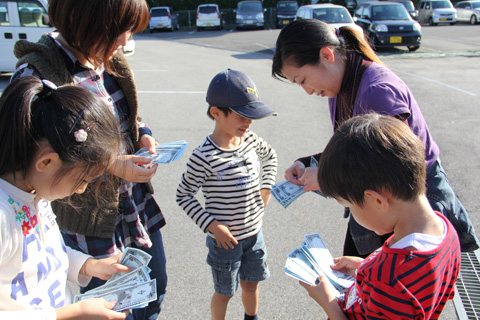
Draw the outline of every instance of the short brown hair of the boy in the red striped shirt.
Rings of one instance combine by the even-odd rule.
[[[409,201],[425,193],[425,147],[400,120],[366,114],[335,131],[318,164],[323,194],[361,206],[364,191]]]

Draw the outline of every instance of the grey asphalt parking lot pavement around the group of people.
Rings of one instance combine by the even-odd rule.
[[[440,146],[450,183],[480,230],[480,26],[424,27],[422,47],[380,56],[410,87]],[[427,34],[429,35],[427,37]],[[169,276],[160,319],[209,319],[213,294],[206,264],[205,234],[175,202],[175,191],[193,148],[213,130],[206,116],[205,91],[211,78],[232,68],[247,73],[260,98],[277,117],[255,121],[252,130],[267,140],[279,159],[277,182],[298,157],[320,152],[332,135],[326,98],[308,96],[298,86],[271,77],[271,57],[278,30],[175,31],[136,35],[128,57],[135,73],[140,114],[163,143],[186,140],[184,156],[158,168],[155,198],[166,217],[162,229]],[[8,75],[2,76],[4,86]],[[202,198],[201,193],[198,195]],[[303,236],[318,232],[334,256],[342,253],[347,221],[333,199],[302,195],[288,209],[272,199],[266,208],[264,235],[270,279],[260,284],[261,319],[322,319],[325,313],[283,271],[286,254]],[[442,319],[454,319],[452,304]],[[240,291],[227,319],[243,319]]]

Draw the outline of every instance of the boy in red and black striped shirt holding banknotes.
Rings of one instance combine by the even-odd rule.
[[[453,298],[458,236],[430,207],[425,177],[423,143],[401,121],[369,114],[335,132],[320,158],[320,189],[365,228],[393,235],[366,259],[334,259],[332,269],[356,277],[344,301],[325,277],[301,282],[330,319],[438,319]]]

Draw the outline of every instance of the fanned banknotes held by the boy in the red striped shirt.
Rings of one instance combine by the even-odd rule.
[[[337,298],[343,298],[346,290],[354,283],[354,277],[330,267],[333,257],[320,234],[307,234],[304,238],[302,246],[287,255],[285,273],[312,286],[318,284],[318,276],[322,274],[336,289]]]

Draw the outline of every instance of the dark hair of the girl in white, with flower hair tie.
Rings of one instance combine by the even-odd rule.
[[[80,129],[88,135],[83,142],[75,137]],[[39,146],[47,142],[63,163],[57,179],[83,168],[80,184],[86,176],[105,172],[118,153],[119,139],[113,113],[88,89],[55,90],[28,76],[12,81],[0,98],[0,175],[25,178]]]

